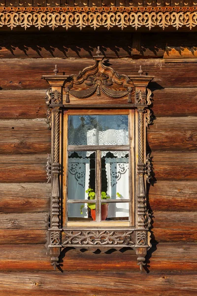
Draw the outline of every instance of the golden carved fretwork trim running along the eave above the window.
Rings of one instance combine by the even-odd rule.
[[[131,27],[163,30],[197,26],[197,7],[0,7],[0,27],[35,27],[39,30],[89,26],[95,30]]]

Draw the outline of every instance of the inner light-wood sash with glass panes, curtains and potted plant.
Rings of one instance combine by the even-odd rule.
[[[132,185],[131,185],[131,111],[115,111],[115,114],[107,114],[107,111],[92,111],[76,114],[77,111],[68,111],[66,116],[67,133],[67,219],[69,226],[94,226],[95,222],[105,225],[109,222],[117,222],[120,225],[130,225],[132,212]],[[117,130],[116,130],[117,129]],[[91,135],[91,137],[90,137]],[[101,136],[102,135],[102,136]],[[96,140],[96,141],[95,141]],[[73,159],[79,166],[83,163],[80,185],[82,194],[75,192],[79,185],[70,185],[70,164]],[[74,164],[75,167],[75,164]],[[84,172],[84,174],[83,174]],[[80,176],[80,174],[79,174]],[[77,178],[79,177],[77,176]],[[120,185],[120,181],[122,185]],[[114,184],[113,184],[114,183]],[[72,189],[70,189],[72,188]],[[95,199],[90,200],[87,190],[92,189]],[[116,192],[115,192],[116,191]],[[120,191],[120,192],[119,192]],[[85,192],[85,193],[84,193]],[[103,192],[107,198],[102,199]],[[88,199],[88,202],[87,202]],[[92,206],[92,207],[91,207]],[[95,209],[92,209],[95,206]],[[82,208],[82,210],[81,210]],[[105,209],[104,209],[105,208]],[[106,212],[106,218],[103,212]],[[81,214],[82,213],[82,214]],[[105,213],[106,215],[106,213]],[[129,224],[121,224],[126,222]],[[130,221],[130,222],[129,222]],[[80,222],[78,224],[77,222]],[[86,222],[86,223],[84,223]]]

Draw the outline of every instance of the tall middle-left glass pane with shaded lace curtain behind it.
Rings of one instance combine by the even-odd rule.
[[[95,192],[95,152],[68,152],[68,199],[89,199],[86,190]]]

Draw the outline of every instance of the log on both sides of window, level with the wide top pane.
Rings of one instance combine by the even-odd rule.
[[[197,117],[159,117],[148,130],[152,150],[194,150]],[[0,153],[50,152],[51,132],[44,119],[0,120]]]

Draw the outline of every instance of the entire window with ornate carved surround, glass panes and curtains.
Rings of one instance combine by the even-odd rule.
[[[78,75],[45,75],[52,130],[51,264],[68,246],[131,247],[140,269],[150,248],[146,126],[152,76],[120,75],[94,56]],[[50,169],[51,167],[51,169]],[[48,180],[49,180],[48,179]]]

